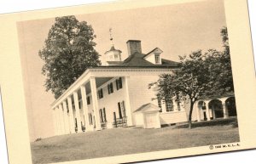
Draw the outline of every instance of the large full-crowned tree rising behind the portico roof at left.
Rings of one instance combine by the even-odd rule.
[[[49,30],[44,48],[39,56],[45,64],[42,73],[46,76],[44,86],[57,99],[82,73],[101,65],[95,50],[96,38],[91,25],[77,20],[74,16],[55,18]]]

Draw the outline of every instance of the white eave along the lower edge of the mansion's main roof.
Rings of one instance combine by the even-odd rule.
[[[144,67],[138,67],[138,66],[134,66],[134,67],[131,67],[131,66],[115,66],[115,65],[106,65],[106,66],[96,66],[96,67],[91,67],[91,68],[88,68],[86,71],[84,71],[84,73],[79,76],[79,78],[73,82],[73,84],[71,84],[71,86],[69,86],[69,88],[66,89],[66,91],[64,93],[61,94],[61,96],[58,98],[58,99],[55,99],[55,101],[50,104],[50,106],[54,106],[56,102],[58,102],[65,93],[67,93],[71,88],[73,88],[73,86],[75,86],[81,79],[84,78],[84,76],[86,76],[90,71],[93,71],[95,69],[168,69],[168,68],[176,68],[176,67],[155,67],[155,66],[144,66]]]

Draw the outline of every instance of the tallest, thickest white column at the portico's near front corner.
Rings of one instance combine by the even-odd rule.
[[[102,130],[101,122],[100,122],[100,114],[99,114],[99,104],[97,99],[97,90],[96,90],[96,79],[95,77],[90,77],[90,91],[92,97],[92,106],[94,110],[95,122],[96,122],[96,130]]]

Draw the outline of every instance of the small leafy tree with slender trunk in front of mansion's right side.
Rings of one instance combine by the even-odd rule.
[[[192,111],[195,101],[211,89],[210,73],[205,65],[205,55],[201,50],[195,51],[189,56],[180,57],[180,69],[172,74],[162,74],[158,80],[158,98],[165,100],[171,97],[179,101],[187,98],[190,102],[189,128],[191,128]],[[154,85],[149,84],[149,87]]]

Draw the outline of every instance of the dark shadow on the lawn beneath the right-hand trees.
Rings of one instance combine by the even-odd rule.
[[[193,122],[192,128],[196,127],[213,127],[213,126],[231,126],[233,128],[238,127],[238,122],[236,117],[230,117],[228,119],[220,118],[211,121]],[[173,128],[189,128],[188,123],[183,123],[176,125]]]

